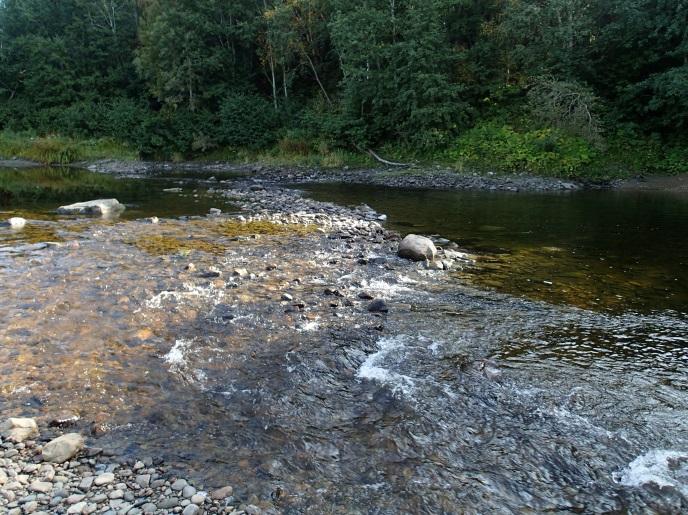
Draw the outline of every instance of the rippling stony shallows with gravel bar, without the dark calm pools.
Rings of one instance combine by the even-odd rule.
[[[685,509],[685,316],[485,291],[370,209],[215,188],[281,229],[55,222],[0,253],[3,413],[283,512]]]

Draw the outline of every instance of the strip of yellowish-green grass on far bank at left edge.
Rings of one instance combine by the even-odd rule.
[[[135,160],[138,153],[111,138],[74,139],[58,135],[0,132],[0,156],[21,158],[41,164],[70,164],[97,159]]]

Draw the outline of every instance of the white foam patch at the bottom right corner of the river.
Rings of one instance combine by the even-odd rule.
[[[688,452],[653,449],[634,459],[618,480],[632,487],[671,487],[688,496]]]

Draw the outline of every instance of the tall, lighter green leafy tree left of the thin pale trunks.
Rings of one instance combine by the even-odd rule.
[[[172,0],[143,10],[136,65],[171,107],[211,107],[254,71],[257,8],[250,0]]]

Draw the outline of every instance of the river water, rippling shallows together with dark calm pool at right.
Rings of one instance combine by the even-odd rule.
[[[189,188],[165,202],[229,209]],[[60,246],[0,235],[0,410],[69,410],[98,445],[285,513],[688,509],[688,198],[307,189],[476,263],[212,219],[43,220]]]

